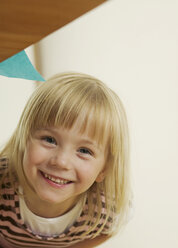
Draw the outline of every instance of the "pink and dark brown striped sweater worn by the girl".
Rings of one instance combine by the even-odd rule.
[[[5,165],[0,163],[0,174],[2,175]],[[89,226],[85,224],[88,213],[87,200],[84,204],[83,211],[74,224],[58,236],[44,237],[36,235],[24,223],[20,215],[19,196],[13,188],[8,188],[7,184],[2,185],[0,189],[0,248],[19,248],[19,247],[41,247],[57,248],[68,247],[84,239],[90,239],[102,225],[105,216],[105,203],[103,200],[102,219],[99,225],[88,235],[82,236]],[[94,221],[94,220],[93,220]],[[111,226],[110,218],[103,230],[106,233]]]

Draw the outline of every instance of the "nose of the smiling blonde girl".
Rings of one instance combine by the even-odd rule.
[[[61,169],[69,170],[71,168],[69,152],[59,151],[54,152],[50,159],[50,164]]]

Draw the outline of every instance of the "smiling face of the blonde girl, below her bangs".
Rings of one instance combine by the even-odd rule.
[[[23,169],[41,203],[67,210],[78,196],[104,177],[106,149],[77,127],[48,127],[28,141]],[[64,210],[65,210],[64,209]]]

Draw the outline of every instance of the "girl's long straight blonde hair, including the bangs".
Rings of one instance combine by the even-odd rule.
[[[33,132],[51,125],[70,129],[77,120],[81,123],[81,132],[87,131],[98,143],[107,142],[106,176],[102,182],[94,182],[87,191],[90,228],[85,234],[98,226],[102,216],[101,192],[105,196],[106,218],[96,236],[113,212],[119,215],[117,226],[123,224],[130,200],[127,118],[121,100],[110,88],[85,74],[64,73],[52,77],[32,94],[0,156],[8,158],[12,184],[18,182],[29,187],[23,172],[23,156]],[[93,204],[94,193],[96,204]],[[94,223],[93,218],[96,218]]]

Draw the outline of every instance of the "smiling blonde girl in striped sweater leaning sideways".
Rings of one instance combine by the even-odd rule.
[[[68,247],[124,223],[127,120],[98,79],[66,73],[39,86],[0,157],[2,247]]]

